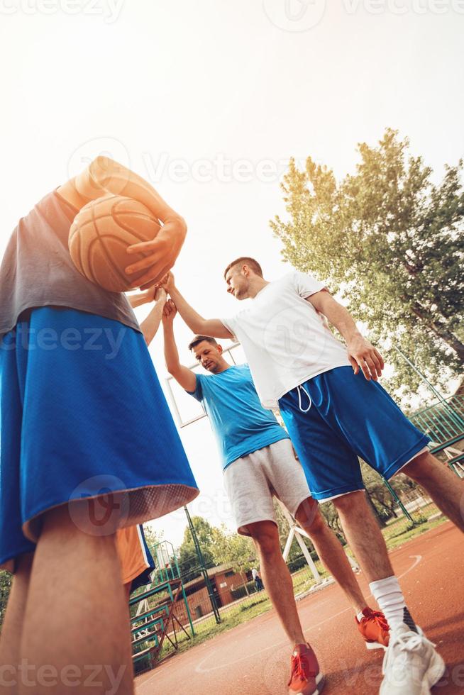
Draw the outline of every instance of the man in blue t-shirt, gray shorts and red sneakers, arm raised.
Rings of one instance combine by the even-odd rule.
[[[181,365],[173,329],[176,313],[175,304],[168,301],[162,318],[167,369],[183,389],[200,401],[209,417],[221,452],[224,485],[238,533],[253,538],[265,587],[294,645],[293,660],[302,650],[309,652],[309,647],[297,613],[292,578],[280,549],[274,495],[306,530],[322,562],[345,591],[355,608],[358,628],[368,648],[387,646],[389,633],[385,618],[366,607],[341,544],[311,498],[287,432],[272,411],[260,403],[248,365],[229,365],[221,345],[203,335],[197,335],[189,349],[209,374],[196,374]],[[316,661],[314,653],[306,656]],[[314,672],[319,681],[311,686],[293,678],[289,692],[303,695],[316,692],[314,688],[320,687],[322,679],[316,664]]]

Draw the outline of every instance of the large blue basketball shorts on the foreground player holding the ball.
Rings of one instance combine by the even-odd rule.
[[[103,535],[198,494],[143,335],[118,321],[28,311],[0,340],[0,427],[0,567],[51,508]]]

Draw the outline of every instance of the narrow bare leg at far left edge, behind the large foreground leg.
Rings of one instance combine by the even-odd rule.
[[[28,598],[29,579],[33,562],[33,552],[16,560],[16,571],[6,608],[4,624],[1,628],[0,664],[0,694],[13,695],[17,692],[13,682],[17,680],[17,669],[20,662],[19,647],[23,632],[24,612]]]

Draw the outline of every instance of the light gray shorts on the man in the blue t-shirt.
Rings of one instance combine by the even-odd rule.
[[[249,523],[273,521],[276,496],[294,516],[302,501],[311,497],[302,466],[292,443],[281,439],[237,459],[224,471],[224,486],[231,502],[238,533],[250,535]]]

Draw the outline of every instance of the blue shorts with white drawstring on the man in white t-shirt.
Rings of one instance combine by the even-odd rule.
[[[364,488],[359,458],[389,479],[430,441],[378,382],[351,367],[309,379],[279,407],[311,495],[321,501]]]

